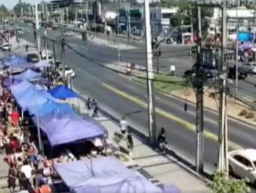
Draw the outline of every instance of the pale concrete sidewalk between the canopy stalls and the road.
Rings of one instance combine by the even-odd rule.
[[[86,96],[83,96],[85,99]],[[71,99],[71,103],[74,106],[78,106],[77,99]],[[86,114],[84,101],[80,101],[80,113]],[[96,121],[100,122],[104,128],[109,132],[109,141],[116,147],[125,152],[127,151],[127,143],[122,141],[120,144],[116,144],[113,141],[115,132],[120,133],[118,123],[111,121],[104,114],[100,114],[99,117],[95,118]],[[129,161],[125,161],[127,167],[136,170],[149,181],[163,187],[163,185],[172,185],[183,193],[207,193],[212,192],[207,187],[209,182],[203,176],[199,176],[190,167],[185,166],[179,160],[169,154],[160,153],[157,150],[153,150],[146,145],[143,139],[134,135],[134,151],[132,158],[129,157]]]

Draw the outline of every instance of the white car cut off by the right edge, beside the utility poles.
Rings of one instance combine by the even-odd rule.
[[[248,179],[256,187],[256,150],[228,152],[229,172],[241,179]]]

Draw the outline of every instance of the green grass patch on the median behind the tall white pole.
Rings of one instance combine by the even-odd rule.
[[[138,83],[147,84],[147,81],[145,79],[140,78],[134,78],[134,81]],[[184,88],[190,87],[185,82],[185,79],[181,77],[175,77],[171,76],[169,74],[154,74],[154,87],[156,90],[160,90],[167,93],[172,93],[176,90],[183,90]]]

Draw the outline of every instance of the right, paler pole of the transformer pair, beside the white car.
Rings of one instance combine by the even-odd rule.
[[[223,3],[222,8],[222,38],[221,38],[221,89],[219,92],[219,164],[218,170],[224,172],[228,178],[228,125],[227,125],[227,105],[226,105],[226,81],[227,81],[227,66],[224,60],[224,52],[227,42],[227,9]]]

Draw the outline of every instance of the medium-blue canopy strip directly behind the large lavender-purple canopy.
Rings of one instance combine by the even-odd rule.
[[[66,114],[75,113],[70,105],[67,103],[55,103],[54,101],[48,101],[44,105],[29,106],[28,113],[31,116],[46,116],[56,110],[60,110]]]

